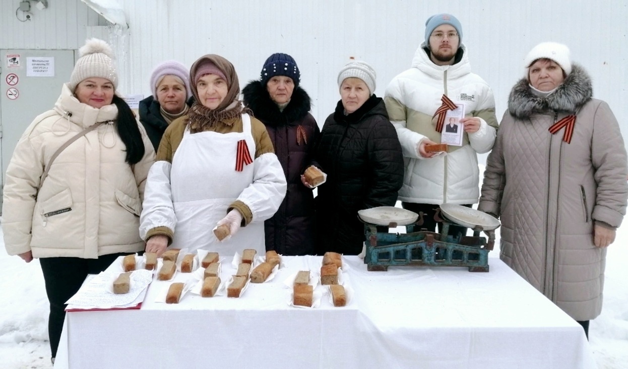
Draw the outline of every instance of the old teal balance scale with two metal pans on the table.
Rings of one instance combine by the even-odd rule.
[[[399,207],[382,206],[359,210],[366,235],[364,263],[369,271],[387,271],[389,266],[467,266],[470,272],[489,271],[489,251],[495,244],[495,217],[462,205],[442,204],[436,221],[442,233],[421,231],[421,217]],[[417,221],[418,219],[418,221]],[[472,229],[473,236],[450,236],[452,224]],[[406,226],[404,234],[377,232],[377,226]],[[415,232],[416,231],[416,232]],[[480,236],[485,232],[489,237]]]

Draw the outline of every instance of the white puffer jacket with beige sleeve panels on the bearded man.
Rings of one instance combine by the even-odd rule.
[[[399,200],[419,204],[475,204],[480,196],[477,153],[489,152],[495,142],[495,98],[489,85],[471,73],[467,50],[454,65],[438,66],[424,50],[414,53],[412,68],[393,78],[384,101],[403,149],[405,174]],[[480,129],[463,133],[462,147],[450,145],[447,155],[423,159],[416,152],[421,140],[441,142],[436,110],[441,96],[465,104],[466,117],[479,117]]]

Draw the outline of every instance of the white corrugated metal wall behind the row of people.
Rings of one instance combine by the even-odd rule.
[[[409,67],[426,18],[447,12],[462,22],[472,68],[494,89],[498,118],[529,49],[557,41],[588,70],[595,96],[609,102],[620,122],[628,120],[625,0],[136,0],[124,9],[131,27],[126,65],[133,72],[122,86],[129,93],[148,95],[151,69],[163,60],[190,66],[217,53],[234,63],[244,86],[259,77],[271,53],[283,52],[297,61],[322,125],[339,99],[337,73],[350,56],[374,66],[376,94],[383,95]]]

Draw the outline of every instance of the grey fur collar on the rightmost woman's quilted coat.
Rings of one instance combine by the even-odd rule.
[[[574,63],[563,84],[548,96],[534,95],[528,79],[519,80],[508,98],[508,111],[517,119],[528,119],[536,113],[575,113],[592,96],[591,78],[581,66]]]

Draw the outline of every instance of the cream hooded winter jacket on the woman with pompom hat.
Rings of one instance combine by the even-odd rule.
[[[71,113],[71,115],[70,115]],[[144,157],[125,162],[126,147],[117,135],[116,105],[100,109],[80,103],[63,86],[55,108],[35,118],[19,139],[6,171],[3,204],[4,245],[9,255],[82,257],[136,252],[139,215],[154,150],[144,128]],[[77,133],[78,138],[53,162],[37,192],[50,157]],[[35,199],[36,195],[36,199]]]

